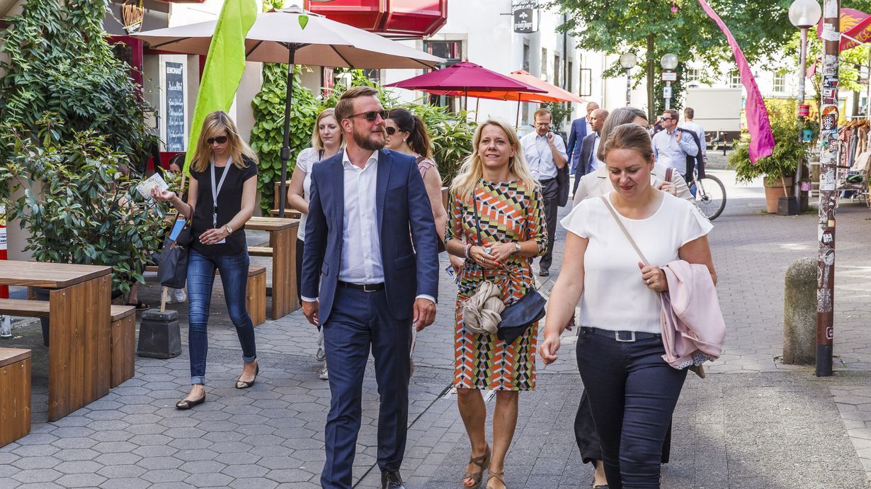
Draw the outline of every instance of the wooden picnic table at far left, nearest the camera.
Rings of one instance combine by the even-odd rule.
[[[51,289],[49,420],[109,393],[111,268],[0,261],[0,285]]]

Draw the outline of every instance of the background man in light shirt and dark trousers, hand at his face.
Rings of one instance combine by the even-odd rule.
[[[544,197],[544,220],[547,224],[547,251],[538,261],[538,275],[550,275],[550,263],[553,261],[553,236],[557,233],[557,207],[559,207],[559,182],[557,171],[564,168],[569,160],[565,153],[563,138],[550,130],[550,111],[538,109],[533,114],[535,132],[520,139],[523,157],[530,166],[532,176],[542,186]]]

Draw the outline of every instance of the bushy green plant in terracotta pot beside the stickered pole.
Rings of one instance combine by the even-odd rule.
[[[740,141],[729,157],[729,168],[735,170],[735,180],[750,183],[763,177],[766,194],[766,211],[777,212],[780,197],[793,195],[793,178],[800,161],[807,160],[807,146],[800,141],[798,119],[795,117],[795,103],[784,103],[768,107],[768,116],[774,134],[774,149],[770,156],[750,161],[747,151],[748,141]]]

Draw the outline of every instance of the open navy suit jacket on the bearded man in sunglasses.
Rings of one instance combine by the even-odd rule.
[[[343,154],[312,166],[301,295],[319,297],[321,324],[327,323],[333,309],[341,268],[345,213]],[[413,156],[382,149],[378,153],[375,179],[388,307],[397,320],[410,320],[417,295],[438,296],[436,222]]]

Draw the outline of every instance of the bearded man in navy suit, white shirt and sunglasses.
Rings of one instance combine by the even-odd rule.
[[[321,486],[329,489],[351,487],[370,349],[381,487],[402,489],[411,329],[436,318],[436,223],[415,158],[383,149],[388,113],[377,94],[361,86],[341,96],[334,115],[345,150],[312,167],[301,295],[302,312],[324,332],[331,399]]]

